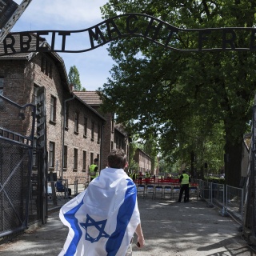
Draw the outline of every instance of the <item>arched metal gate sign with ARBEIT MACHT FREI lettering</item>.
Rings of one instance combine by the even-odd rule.
[[[43,44],[45,36],[48,46]],[[179,51],[256,50],[255,28],[181,29],[147,14],[121,14],[85,30],[34,30],[8,34],[3,41],[2,55],[38,51],[81,53],[130,36],[146,38]]]

